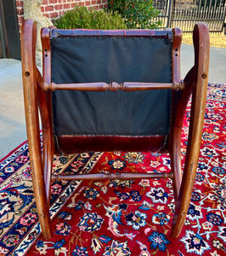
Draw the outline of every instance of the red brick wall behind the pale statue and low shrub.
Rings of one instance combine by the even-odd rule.
[[[15,0],[17,7],[18,23],[21,29],[24,20],[23,1]],[[50,20],[59,17],[67,9],[72,9],[75,5],[92,6],[95,9],[107,8],[108,0],[42,0],[42,14]]]

